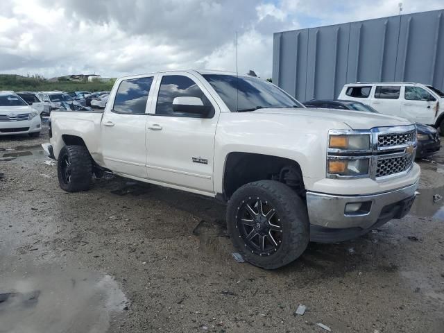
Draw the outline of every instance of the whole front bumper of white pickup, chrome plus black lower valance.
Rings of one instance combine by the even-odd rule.
[[[394,191],[363,196],[337,196],[307,192],[310,239],[318,242],[345,241],[378,228],[391,219],[401,219],[410,210],[418,181]],[[363,203],[364,210],[346,212],[350,203]]]

